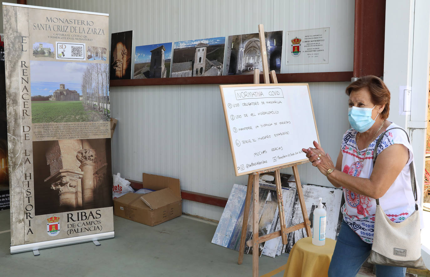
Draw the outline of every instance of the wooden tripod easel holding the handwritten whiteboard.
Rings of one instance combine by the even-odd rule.
[[[269,72],[268,72],[269,69],[267,66],[266,41],[265,41],[265,37],[264,37],[263,24],[258,25],[258,33],[260,36],[260,49],[261,49],[261,60],[263,63],[264,83],[269,84],[270,83]],[[275,70],[272,70],[270,72],[270,76],[272,77],[272,82],[277,84],[278,80],[276,79]],[[258,70],[258,69],[254,70],[254,83],[255,84],[260,83],[260,70]],[[246,189],[245,208],[243,211],[242,234],[240,236],[239,260],[237,263],[240,265],[243,262],[243,251],[245,250],[245,243],[249,247],[253,247],[253,249],[252,249],[252,276],[253,277],[258,277],[258,256],[259,256],[258,255],[258,247],[259,247],[259,244],[261,244],[267,240],[270,240],[272,238],[275,238],[275,237],[282,237],[282,243],[287,244],[287,240],[288,240],[287,234],[290,232],[299,230],[301,228],[306,229],[306,234],[308,237],[311,235],[310,221],[309,221],[309,218],[307,216],[306,205],[304,203],[303,191],[301,189],[300,177],[299,177],[298,168],[297,168],[298,164],[304,164],[306,162],[307,161],[298,162],[295,164],[289,164],[289,165],[282,166],[282,167],[270,168],[267,170],[261,170],[261,171],[257,171],[257,172],[253,172],[252,174],[249,174],[248,187]],[[304,222],[301,222],[301,223],[294,225],[294,226],[291,226],[289,228],[287,228],[286,224],[285,224],[284,203],[283,203],[282,188],[281,188],[281,176],[279,173],[279,170],[281,170],[283,168],[287,168],[287,167],[292,167],[292,169],[293,169],[293,174],[294,174],[295,183],[296,183],[296,189],[297,189],[298,198],[299,198],[300,206],[301,206],[301,213],[302,213],[303,218],[304,218]],[[260,207],[258,204],[258,198],[259,198],[259,196],[258,196],[259,185],[258,184],[259,184],[260,174],[270,172],[270,171],[275,172],[276,195],[278,197],[278,210],[279,210],[279,221],[280,221],[280,225],[281,225],[281,230],[275,231],[275,232],[270,233],[270,234],[266,234],[266,235],[261,236],[261,237],[258,237],[258,223],[259,223],[258,222],[259,221],[258,209]],[[252,187],[254,187],[254,209],[252,211],[252,240],[245,242],[246,227],[248,225],[249,206],[251,204],[250,202],[251,202]]]

